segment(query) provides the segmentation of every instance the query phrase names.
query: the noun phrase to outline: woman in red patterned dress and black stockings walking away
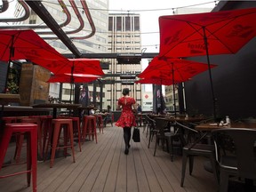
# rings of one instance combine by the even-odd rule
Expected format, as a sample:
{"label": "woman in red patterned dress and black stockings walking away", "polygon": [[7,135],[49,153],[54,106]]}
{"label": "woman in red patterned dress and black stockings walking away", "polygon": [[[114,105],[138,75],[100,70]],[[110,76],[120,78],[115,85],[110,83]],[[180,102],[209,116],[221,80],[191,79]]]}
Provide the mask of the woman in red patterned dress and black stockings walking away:
{"label": "woman in red patterned dress and black stockings walking away", "polygon": [[122,109],[121,116],[116,122],[116,126],[123,127],[124,130],[124,143],[125,150],[124,154],[128,155],[131,140],[131,130],[132,126],[136,126],[135,116],[133,110],[137,110],[137,105],[135,100],[129,96],[129,89],[123,89],[123,97],[121,97],[117,102],[117,110]]}

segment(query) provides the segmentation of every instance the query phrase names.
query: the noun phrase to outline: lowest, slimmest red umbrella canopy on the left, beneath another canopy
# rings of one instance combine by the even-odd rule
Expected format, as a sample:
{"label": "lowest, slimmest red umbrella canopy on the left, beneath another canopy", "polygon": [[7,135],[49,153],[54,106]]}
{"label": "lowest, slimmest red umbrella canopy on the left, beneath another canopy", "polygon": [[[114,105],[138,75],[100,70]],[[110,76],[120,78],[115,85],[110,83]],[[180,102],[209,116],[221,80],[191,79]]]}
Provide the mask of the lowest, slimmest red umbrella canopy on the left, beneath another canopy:
{"label": "lowest, slimmest red umbrella canopy on the left, beneath another canopy", "polygon": [[49,78],[48,83],[89,83],[95,81],[101,76],[95,76],[90,74],[60,74],[54,75]]}

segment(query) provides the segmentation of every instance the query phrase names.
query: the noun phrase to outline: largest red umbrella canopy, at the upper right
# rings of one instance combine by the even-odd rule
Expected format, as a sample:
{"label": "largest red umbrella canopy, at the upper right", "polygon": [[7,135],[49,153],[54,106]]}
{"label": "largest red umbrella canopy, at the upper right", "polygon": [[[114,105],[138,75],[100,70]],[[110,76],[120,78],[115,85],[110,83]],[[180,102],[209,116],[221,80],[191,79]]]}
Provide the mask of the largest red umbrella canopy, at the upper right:
{"label": "largest red umbrella canopy, at the upper right", "polygon": [[160,56],[189,57],[236,53],[256,36],[256,8],[161,16]]}

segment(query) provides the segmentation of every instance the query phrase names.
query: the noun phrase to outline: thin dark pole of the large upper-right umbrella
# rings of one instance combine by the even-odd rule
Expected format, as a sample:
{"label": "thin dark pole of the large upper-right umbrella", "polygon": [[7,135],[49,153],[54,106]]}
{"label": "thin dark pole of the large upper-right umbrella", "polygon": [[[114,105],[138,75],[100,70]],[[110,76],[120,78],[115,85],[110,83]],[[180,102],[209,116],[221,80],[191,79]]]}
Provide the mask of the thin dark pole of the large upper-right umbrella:
{"label": "thin dark pole of the large upper-right umbrella", "polygon": [[205,45],[205,51],[206,51],[206,57],[207,57],[207,64],[208,64],[208,71],[209,71],[209,77],[210,77],[210,84],[211,84],[211,91],[212,91],[212,103],[213,103],[213,118],[216,119],[216,98],[214,95],[213,90],[213,84],[212,84],[212,69],[210,65],[210,58],[209,58],[209,52],[208,52],[208,44],[207,44],[207,37],[205,34],[205,28],[203,27],[204,31],[204,45]]}

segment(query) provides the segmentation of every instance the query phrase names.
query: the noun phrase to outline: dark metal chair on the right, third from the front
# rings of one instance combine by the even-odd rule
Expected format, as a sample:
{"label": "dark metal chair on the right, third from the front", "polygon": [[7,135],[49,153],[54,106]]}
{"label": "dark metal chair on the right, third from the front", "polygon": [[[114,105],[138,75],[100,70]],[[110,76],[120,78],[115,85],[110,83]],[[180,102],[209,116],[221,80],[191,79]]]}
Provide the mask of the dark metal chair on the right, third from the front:
{"label": "dark metal chair on the right, third from the front", "polygon": [[[166,149],[171,156],[171,161],[173,161],[173,148],[180,148],[180,154],[182,153],[182,136],[179,130],[173,129],[173,132],[166,132],[166,128],[170,126],[170,122],[164,118],[156,118],[156,145],[154,150],[154,156],[156,156],[157,142],[161,141],[162,147],[164,149],[164,144],[166,144]],[[172,124],[173,125],[173,124]],[[171,129],[170,129],[171,131]]]}

